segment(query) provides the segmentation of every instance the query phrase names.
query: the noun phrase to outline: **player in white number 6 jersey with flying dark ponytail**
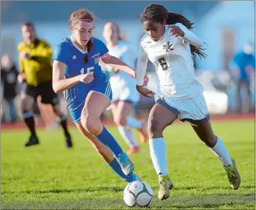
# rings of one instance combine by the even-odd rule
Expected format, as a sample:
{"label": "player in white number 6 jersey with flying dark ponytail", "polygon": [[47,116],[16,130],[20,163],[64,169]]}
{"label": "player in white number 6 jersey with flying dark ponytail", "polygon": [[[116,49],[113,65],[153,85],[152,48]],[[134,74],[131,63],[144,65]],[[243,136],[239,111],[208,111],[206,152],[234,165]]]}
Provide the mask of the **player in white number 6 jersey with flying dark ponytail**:
{"label": "player in white number 6 jersey with flying dark ponytail", "polygon": [[[203,88],[194,76],[192,57],[205,57],[205,53],[202,40],[190,30],[193,23],[157,4],[144,9],[141,22],[146,34],[140,42],[136,88],[146,97],[154,96],[156,101],[150,111],[148,133],[150,155],[159,181],[158,198],[167,199],[173,187],[167,173],[163,130],[178,116],[183,122],[190,122],[200,140],[221,160],[231,187],[238,189],[241,180],[236,163],[221,138],[213,133]],[[148,59],[154,63],[160,80],[156,93],[143,86]]]}

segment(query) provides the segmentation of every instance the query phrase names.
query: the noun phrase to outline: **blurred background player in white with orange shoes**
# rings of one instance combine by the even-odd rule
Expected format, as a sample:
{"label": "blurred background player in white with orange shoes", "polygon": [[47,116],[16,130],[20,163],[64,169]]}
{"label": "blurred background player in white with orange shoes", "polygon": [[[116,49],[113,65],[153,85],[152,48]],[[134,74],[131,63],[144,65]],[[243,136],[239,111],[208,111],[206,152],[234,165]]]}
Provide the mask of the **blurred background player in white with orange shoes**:
{"label": "blurred background player in white with orange shoes", "polygon": [[[135,68],[137,53],[121,38],[119,26],[115,22],[106,22],[103,36],[106,40],[109,54],[121,59],[129,66]],[[136,128],[140,133],[140,140],[148,140],[146,123],[131,117],[133,107],[140,101],[140,93],[136,90],[136,80],[126,72],[116,70],[110,65],[104,66],[110,73],[112,88],[112,115],[114,123],[119,128],[121,136],[130,147],[128,154],[138,153],[139,147],[133,136],[131,128]]]}

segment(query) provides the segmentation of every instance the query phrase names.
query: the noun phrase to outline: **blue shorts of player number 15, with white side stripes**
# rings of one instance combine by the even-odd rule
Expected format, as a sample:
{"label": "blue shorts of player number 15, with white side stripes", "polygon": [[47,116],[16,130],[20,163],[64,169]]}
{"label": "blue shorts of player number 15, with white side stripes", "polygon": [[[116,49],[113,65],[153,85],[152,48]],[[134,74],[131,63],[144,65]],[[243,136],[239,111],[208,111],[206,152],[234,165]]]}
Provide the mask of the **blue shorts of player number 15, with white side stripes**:
{"label": "blue shorts of player number 15, with white side stripes", "polygon": [[[112,89],[110,86],[110,82],[108,82],[108,80],[97,82],[90,88],[83,89],[83,93],[85,94],[85,99],[89,92],[100,93],[106,96],[110,100],[110,103],[112,103]],[[75,101],[75,103],[73,103],[72,106],[68,106],[68,110],[72,117],[73,122],[80,122],[81,113],[85,105],[85,99],[83,101],[79,101],[79,103]]]}

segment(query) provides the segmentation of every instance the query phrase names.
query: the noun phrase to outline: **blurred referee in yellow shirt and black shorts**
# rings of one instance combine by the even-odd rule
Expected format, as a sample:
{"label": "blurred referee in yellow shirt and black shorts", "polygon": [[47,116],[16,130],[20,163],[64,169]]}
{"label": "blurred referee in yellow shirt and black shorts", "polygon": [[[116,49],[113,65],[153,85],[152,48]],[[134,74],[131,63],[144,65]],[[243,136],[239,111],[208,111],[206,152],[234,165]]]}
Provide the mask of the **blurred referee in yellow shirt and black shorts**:
{"label": "blurred referee in yellow shirt and black shorts", "polygon": [[60,111],[58,95],[52,88],[51,47],[37,38],[35,26],[25,22],[21,26],[24,41],[18,45],[20,74],[18,82],[25,82],[26,87],[22,93],[22,116],[30,130],[30,138],[25,146],[39,144],[35,131],[33,105],[37,97],[41,96],[41,103],[52,105],[54,112],[60,117],[60,124],[66,138],[66,147],[72,147],[71,136],[68,132],[66,115]]}

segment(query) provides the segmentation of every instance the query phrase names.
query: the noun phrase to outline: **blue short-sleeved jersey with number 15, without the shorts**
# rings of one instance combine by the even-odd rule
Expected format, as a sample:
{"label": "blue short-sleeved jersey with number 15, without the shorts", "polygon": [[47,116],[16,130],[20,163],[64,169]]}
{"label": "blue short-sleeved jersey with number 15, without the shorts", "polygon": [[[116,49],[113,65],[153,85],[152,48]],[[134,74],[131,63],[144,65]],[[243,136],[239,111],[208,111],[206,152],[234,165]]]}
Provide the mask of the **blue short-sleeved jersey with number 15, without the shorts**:
{"label": "blue short-sleeved jersey with number 15, without the shorts", "polygon": [[[100,82],[104,77],[104,72],[99,65],[100,56],[108,53],[106,45],[98,38],[91,37],[93,49],[91,52],[81,50],[74,44],[70,37],[64,38],[54,49],[54,60],[66,63],[65,78],[72,78],[79,74],[93,72],[94,80],[90,84],[79,84],[69,88],[65,95],[68,102],[83,101],[85,99],[85,89],[91,88],[95,83]],[[88,55],[88,62],[84,64],[85,55]]]}

